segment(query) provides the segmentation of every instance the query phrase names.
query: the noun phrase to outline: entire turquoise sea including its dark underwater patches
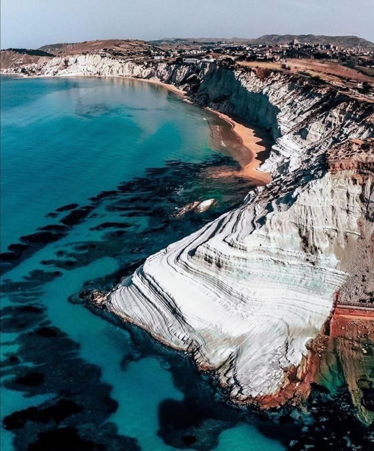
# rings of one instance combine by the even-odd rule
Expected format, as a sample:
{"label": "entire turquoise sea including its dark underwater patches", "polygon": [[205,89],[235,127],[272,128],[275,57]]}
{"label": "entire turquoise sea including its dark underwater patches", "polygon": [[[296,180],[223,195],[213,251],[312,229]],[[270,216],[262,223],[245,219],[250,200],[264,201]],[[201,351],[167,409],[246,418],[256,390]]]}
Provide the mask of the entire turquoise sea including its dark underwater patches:
{"label": "entire turquoise sea including its dark underwater patches", "polygon": [[[236,166],[216,139],[224,127],[137,81],[1,78],[1,450],[275,451],[312,440],[289,412],[227,403],[185,355],[78,295],[110,289],[240,203],[248,181],[213,175]],[[210,197],[207,212],[173,216]]]}

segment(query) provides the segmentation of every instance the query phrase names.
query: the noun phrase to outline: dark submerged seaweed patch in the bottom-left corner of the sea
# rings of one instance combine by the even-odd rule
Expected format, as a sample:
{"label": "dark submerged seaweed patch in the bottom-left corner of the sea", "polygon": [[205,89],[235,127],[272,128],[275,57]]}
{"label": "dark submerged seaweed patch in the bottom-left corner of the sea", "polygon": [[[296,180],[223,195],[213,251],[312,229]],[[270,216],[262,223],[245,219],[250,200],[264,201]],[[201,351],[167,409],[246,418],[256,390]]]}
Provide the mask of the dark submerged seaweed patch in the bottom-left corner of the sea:
{"label": "dark submerged seaweed patch in the bottom-left corner of the sea", "polygon": [[98,366],[79,357],[78,344],[48,323],[45,308],[8,306],[2,317],[3,332],[22,331],[14,341],[17,355],[1,362],[2,386],[27,396],[51,394],[3,419],[15,434],[15,449],[140,449],[107,422],[117,409],[111,387],[101,381]]}

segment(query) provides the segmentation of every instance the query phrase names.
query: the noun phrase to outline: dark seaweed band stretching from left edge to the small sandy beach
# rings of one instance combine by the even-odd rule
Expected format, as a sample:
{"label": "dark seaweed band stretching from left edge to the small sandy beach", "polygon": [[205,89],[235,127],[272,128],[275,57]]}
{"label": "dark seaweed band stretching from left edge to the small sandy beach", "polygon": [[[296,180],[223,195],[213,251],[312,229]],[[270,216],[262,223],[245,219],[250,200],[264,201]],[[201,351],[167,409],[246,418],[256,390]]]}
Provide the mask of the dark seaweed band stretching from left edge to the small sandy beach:
{"label": "dark seaweed band stretching from left edge to the small sandy beach", "polygon": [[[206,171],[209,169],[227,165],[235,166],[235,164],[230,158],[220,155],[200,163],[168,161],[164,167],[148,168],[144,177],[134,177],[130,181],[121,183],[116,190],[99,192],[90,197],[91,203],[87,205],[79,206],[76,203],[70,203],[58,207],[47,216],[54,218],[59,216],[59,223],[40,226],[36,232],[20,237],[21,243],[9,245],[8,252],[0,255],[2,272],[5,273],[14,268],[47,244],[66,237],[72,228],[86,220],[88,216],[94,217],[97,214],[94,210],[101,205],[104,205],[106,213],[110,213],[110,220],[95,225],[92,230],[117,229],[111,232],[110,239],[123,236],[123,231],[131,225],[138,226],[136,218],[148,220],[148,227],[146,223],[143,223],[137,233],[165,232],[165,227],[169,223],[168,216],[174,209],[190,201],[203,200],[218,194],[219,202],[211,211],[203,213],[201,217],[189,217],[181,233],[174,235],[177,239],[182,236],[182,231],[188,234],[200,227],[203,220],[210,220],[235,206],[250,189],[251,183],[245,179],[227,177],[217,180],[207,175]],[[68,213],[61,217],[61,214],[66,211]],[[113,217],[115,212],[118,212],[117,220]],[[123,217],[132,218],[132,221],[124,221]],[[179,226],[180,223],[176,225],[176,228]],[[133,234],[132,230],[131,232]],[[171,236],[169,242],[173,239]],[[166,244],[168,243],[165,241]],[[56,266],[68,268],[69,264]],[[74,267],[75,264],[71,263],[70,266]]]}

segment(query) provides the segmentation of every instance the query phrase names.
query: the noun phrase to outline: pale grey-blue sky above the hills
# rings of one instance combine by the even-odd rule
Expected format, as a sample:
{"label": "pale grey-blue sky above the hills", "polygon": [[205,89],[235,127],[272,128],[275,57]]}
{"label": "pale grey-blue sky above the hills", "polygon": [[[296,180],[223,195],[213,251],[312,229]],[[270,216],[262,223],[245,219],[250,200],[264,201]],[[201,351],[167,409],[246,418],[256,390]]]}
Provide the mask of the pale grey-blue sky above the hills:
{"label": "pale grey-blue sky above the hills", "polygon": [[374,0],[0,0],[0,47],[94,39],[356,35],[374,41]]}

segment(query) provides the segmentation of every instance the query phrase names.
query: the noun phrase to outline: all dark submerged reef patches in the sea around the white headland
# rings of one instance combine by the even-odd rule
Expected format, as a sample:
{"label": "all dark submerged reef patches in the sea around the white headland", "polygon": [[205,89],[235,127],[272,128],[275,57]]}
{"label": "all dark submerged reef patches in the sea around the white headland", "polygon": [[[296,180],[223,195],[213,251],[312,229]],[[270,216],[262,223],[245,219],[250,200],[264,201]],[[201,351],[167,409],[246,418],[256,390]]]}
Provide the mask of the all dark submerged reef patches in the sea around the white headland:
{"label": "all dark submerged reef patches in the sea around the white headland", "polygon": [[[2,332],[17,334],[13,341],[16,354],[9,352],[1,361],[2,386],[31,400],[35,395],[49,396],[3,419],[2,426],[14,433],[15,449],[140,449],[135,438],[119,434],[117,425],[110,421],[117,401],[112,397],[112,387],[101,380],[100,368],[84,360],[78,343],[51,324],[47,306],[39,299],[45,284],[63,272],[103,257],[115,258],[118,270],[86,281],[80,296],[71,293],[70,302],[84,304],[90,289],[112,288],[148,255],[236,206],[250,186],[246,180],[227,178],[219,180],[220,197],[210,210],[202,214],[188,212],[181,218],[173,216],[176,208],[188,202],[215,197],[217,181],[206,177],[206,170],[229,164],[230,159],[216,156],[200,164],[172,161],[162,168],[148,169],[145,177],[124,182],[116,190],[102,191],[85,206],[71,203],[57,208],[49,215],[58,218],[57,224],[41,225],[38,231],[21,237],[21,243],[8,247],[2,260],[4,270],[14,268],[48,243],[55,243],[51,251],[54,255],[40,262],[44,270],[35,268],[22,280],[4,279],[1,285],[11,301],[1,310]],[[66,211],[61,217],[60,213]],[[90,227],[95,239],[59,246],[62,237],[92,215],[99,218],[98,225]],[[91,221],[87,228],[90,225]],[[53,303],[53,298],[49,302]],[[107,319],[119,324],[113,318]],[[123,355],[122,371],[130,362],[155,357],[183,393],[182,400],[163,399],[158,406],[157,433],[168,446],[213,449],[223,430],[249,422],[264,436],[280,440],[289,449],[372,449],[374,431],[355,419],[343,387],[332,395],[314,386],[304,413],[290,406],[255,412],[228,403],[210,375],[198,372],[188,356],[167,349],[139,328],[122,323],[120,327],[120,333],[131,342],[130,350]],[[365,393],[364,402],[372,406],[370,391]]]}

